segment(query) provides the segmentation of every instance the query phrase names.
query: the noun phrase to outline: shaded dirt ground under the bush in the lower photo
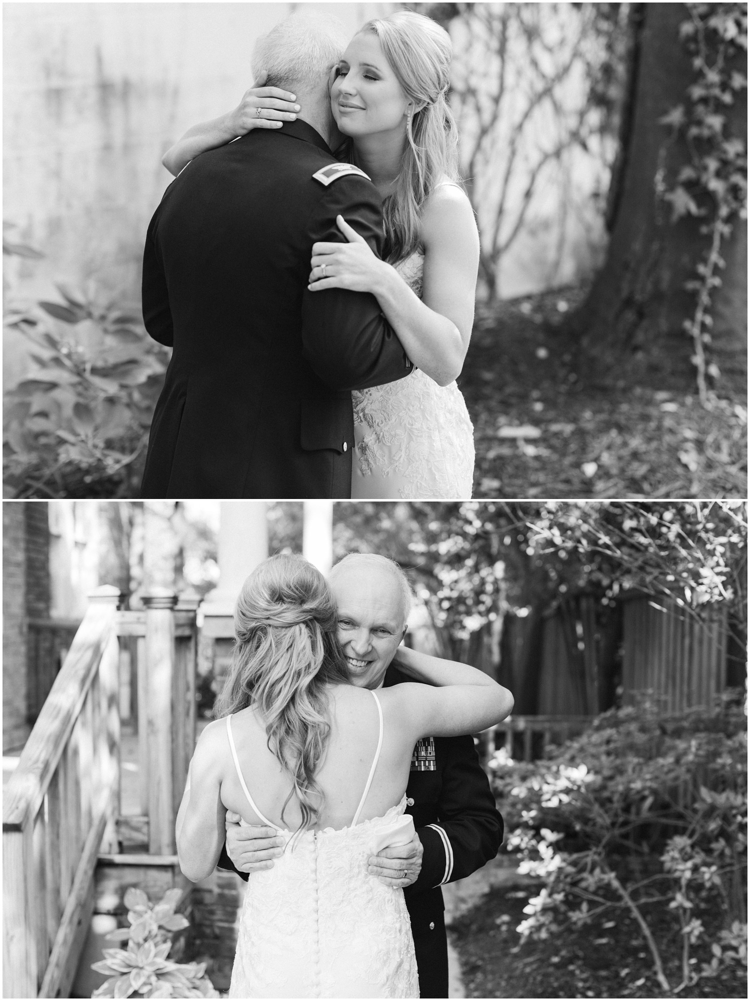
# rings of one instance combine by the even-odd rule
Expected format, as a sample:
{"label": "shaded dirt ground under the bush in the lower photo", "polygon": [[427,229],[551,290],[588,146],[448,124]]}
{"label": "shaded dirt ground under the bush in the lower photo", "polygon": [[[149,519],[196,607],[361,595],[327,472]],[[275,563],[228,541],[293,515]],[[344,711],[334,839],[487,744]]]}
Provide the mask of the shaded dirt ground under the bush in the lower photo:
{"label": "shaded dirt ground under the bush in the lower photo", "polygon": [[[638,925],[621,910],[604,912],[579,930],[569,929],[542,942],[521,945],[516,927],[529,888],[501,886],[490,890],[470,911],[451,924],[451,941],[461,963],[466,997],[586,998],[664,997],[654,975],[651,954]],[[680,983],[681,936],[677,921],[664,908],[649,914],[651,931],[673,987]],[[707,927],[711,916],[701,915]],[[714,921],[716,915],[713,916]],[[697,946],[697,968],[708,962],[707,945]],[[701,979],[679,997],[744,998],[747,971],[740,968],[713,979]]]}

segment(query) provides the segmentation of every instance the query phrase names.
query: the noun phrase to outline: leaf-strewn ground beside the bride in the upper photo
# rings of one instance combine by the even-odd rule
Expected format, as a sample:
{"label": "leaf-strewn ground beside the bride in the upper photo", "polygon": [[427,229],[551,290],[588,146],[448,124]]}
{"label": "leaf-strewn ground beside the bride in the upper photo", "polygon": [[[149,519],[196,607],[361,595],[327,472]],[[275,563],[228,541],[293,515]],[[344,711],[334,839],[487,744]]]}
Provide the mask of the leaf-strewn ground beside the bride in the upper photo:
{"label": "leaf-strewn ground beside the bride in the upper photo", "polygon": [[563,332],[581,298],[569,288],[478,311],[459,380],[475,425],[474,495],[746,496],[744,395],[720,388],[707,410],[684,372],[595,380]]}

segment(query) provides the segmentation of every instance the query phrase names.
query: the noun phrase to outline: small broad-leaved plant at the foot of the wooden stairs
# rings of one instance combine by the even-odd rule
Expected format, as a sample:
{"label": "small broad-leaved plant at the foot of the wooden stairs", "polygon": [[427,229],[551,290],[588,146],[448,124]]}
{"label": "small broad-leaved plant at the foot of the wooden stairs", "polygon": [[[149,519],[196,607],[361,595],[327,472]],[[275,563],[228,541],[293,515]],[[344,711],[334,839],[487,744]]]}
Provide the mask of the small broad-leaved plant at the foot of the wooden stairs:
{"label": "small broad-leaved plant at the foot of the wooden stairs", "polygon": [[142,890],[130,887],[125,892],[129,928],[118,928],[107,938],[127,940],[127,949],[105,949],[105,958],[91,964],[97,973],[109,979],[94,991],[95,998],[127,998],[140,994],[147,998],[216,998],[219,996],[205,976],[205,963],[174,963],[167,959],[174,932],[187,928],[189,922],[174,908],[182,896],[175,888],[167,890],[158,904],[152,905]]}

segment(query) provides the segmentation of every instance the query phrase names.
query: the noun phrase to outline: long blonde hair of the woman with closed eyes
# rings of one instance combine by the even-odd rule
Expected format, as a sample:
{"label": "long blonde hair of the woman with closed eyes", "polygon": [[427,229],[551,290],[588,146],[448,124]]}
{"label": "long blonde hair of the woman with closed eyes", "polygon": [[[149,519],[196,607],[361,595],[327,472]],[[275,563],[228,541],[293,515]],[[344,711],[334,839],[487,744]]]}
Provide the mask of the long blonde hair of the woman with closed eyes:
{"label": "long blonde hair of the woman with closed eyes", "polygon": [[396,190],[383,203],[384,257],[397,263],[421,243],[422,206],[443,178],[459,179],[459,132],[446,100],[451,85],[451,36],[411,10],[367,21],[404,93],[413,102]]}

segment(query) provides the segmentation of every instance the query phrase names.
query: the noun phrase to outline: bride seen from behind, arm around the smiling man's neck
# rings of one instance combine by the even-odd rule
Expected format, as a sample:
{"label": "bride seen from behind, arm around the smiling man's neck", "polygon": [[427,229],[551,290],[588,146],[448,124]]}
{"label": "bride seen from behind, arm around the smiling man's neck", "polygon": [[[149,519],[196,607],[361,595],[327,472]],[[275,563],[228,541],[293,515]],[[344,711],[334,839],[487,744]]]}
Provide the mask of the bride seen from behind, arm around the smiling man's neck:
{"label": "bride seen from behind, arm around the smiling man's neck", "polygon": [[216,865],[227,810],[284,841],[273,868],[250,876],[229,996],[417,997],[404,891],[369,875],[367,858],[414,834],[417,741],[492,726],[512,697],[474,668],[413,651],[410,673],[429,684],[351,684],[333,596],[299,557],[253,571],[234,625],[226,716],[198,740],[176,824],[195,881]]}

